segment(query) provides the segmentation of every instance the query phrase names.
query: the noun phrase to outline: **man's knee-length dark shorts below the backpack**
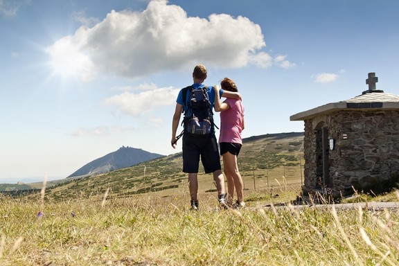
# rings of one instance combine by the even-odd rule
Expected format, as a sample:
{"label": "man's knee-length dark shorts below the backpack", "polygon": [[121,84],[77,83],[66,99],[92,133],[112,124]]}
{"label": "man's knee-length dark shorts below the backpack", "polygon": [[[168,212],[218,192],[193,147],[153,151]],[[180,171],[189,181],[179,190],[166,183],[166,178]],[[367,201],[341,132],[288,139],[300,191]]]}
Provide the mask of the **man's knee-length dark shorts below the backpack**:
{"label": "man's knee-length dark shorts below the backpack", "polygon": [[199,159],[206,174],[221,170],[218,141],[215,134],[209,136],[183,135],[183,172],[196,173]]}

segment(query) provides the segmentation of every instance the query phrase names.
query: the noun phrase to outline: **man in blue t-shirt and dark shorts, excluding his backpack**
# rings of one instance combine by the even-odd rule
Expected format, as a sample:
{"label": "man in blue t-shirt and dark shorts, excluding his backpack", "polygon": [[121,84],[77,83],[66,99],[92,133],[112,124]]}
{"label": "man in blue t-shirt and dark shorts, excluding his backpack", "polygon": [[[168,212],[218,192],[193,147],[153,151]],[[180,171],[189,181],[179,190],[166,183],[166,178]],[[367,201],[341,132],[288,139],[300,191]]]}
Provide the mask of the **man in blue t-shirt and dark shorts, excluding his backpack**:
{"label": "man in blue t-shirt and dark shorts, excluding his backpack", "polygon": [[[206,67],[202,64],[197,65],[193,71],[193,88],[202,89],[204,88],[204,80],[206,80]],[[187,99],[190,96],[190,91],[186,90],[186,97],[183,96],[184,89],[179,91],[179,95],[176,100],[175,114],[172,119],[172,148],[176,148],[177,142],[177,127],[179,127],[179,121],[181,118],[181,112],[186,111],[189,108]],[[211,109],[213,109],[213,103],[215,99],[215,91],[213,87],[208,87],[206,92],[209,96],[209,102]],[[223,91],[220,89],[220,96],[227,98],[240,98],[240,94]],[[186,103],[184,103],[184,98],[186,98]],[[224,193],[224,176],[222,174],[222,168],[220,166],[220,154],[218,149],[218,142],[215,137],[215,129],[212,124],[212,129],[210,134],[205,135],[193,135],[186,130],[183,134],[183,172],[188,173],[188,188],[190,190],[190,204],[191,210],[198,210],[198,168],[199,168],[199,158],[201,158],[202,165],[206,173],[213,174],[213,180],[215,181],[216,188],[218,190],[219,203],[223,208],[227,207],[226,194]]]}

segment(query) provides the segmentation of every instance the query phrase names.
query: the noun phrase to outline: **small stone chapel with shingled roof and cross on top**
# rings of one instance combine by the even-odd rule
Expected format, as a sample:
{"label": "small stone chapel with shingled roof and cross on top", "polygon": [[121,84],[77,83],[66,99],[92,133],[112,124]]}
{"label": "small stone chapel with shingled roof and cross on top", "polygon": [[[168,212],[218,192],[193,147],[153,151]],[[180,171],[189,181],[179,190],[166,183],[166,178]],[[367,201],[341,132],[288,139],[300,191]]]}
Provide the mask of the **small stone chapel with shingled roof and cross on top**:
{"label": "small stone chapel with shingled roof and cross on top", "polygon": [[290,116],[304,121],[305,195],[381,193],[399,180],[399,96],[376,89],[369,73],[362,95]]}

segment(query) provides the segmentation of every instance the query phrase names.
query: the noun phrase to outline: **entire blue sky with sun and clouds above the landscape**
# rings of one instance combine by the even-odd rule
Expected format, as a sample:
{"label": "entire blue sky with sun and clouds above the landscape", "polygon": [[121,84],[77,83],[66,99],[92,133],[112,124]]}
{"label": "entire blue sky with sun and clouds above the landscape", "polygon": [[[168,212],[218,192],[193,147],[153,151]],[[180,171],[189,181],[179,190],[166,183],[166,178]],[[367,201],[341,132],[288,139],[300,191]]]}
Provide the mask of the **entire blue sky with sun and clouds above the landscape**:
{"label": "entire blue sky with sun and clouds above the landscape", "polygon": [[206,85],[236,82],[244,138],[303,132],[290,116],[362,94],[369,72],[399,94],[398,11],[396,0],[0,0],[0,182],[62,179],[122,146],[181,152],[172,115],[196,64]]}

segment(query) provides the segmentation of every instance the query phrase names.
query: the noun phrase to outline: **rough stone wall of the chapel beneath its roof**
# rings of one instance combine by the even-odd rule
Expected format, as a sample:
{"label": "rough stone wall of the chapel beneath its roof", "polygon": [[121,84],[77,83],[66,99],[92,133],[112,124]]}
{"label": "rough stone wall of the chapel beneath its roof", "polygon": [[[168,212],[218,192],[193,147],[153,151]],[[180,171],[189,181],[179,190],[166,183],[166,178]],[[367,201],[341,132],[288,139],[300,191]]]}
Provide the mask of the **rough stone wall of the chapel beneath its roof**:
{"label": "rough stone wall of the chapel beneath its roof", "polygon": [[352,194],[353,188],[379,193],[395,186],[399,179],[399,111],[345,110],[305,121],[304,191],[327,189],[320,170],[323,127],[328,128],[328,138],[335,139],[335,148],[328,150],[333,194]]}

